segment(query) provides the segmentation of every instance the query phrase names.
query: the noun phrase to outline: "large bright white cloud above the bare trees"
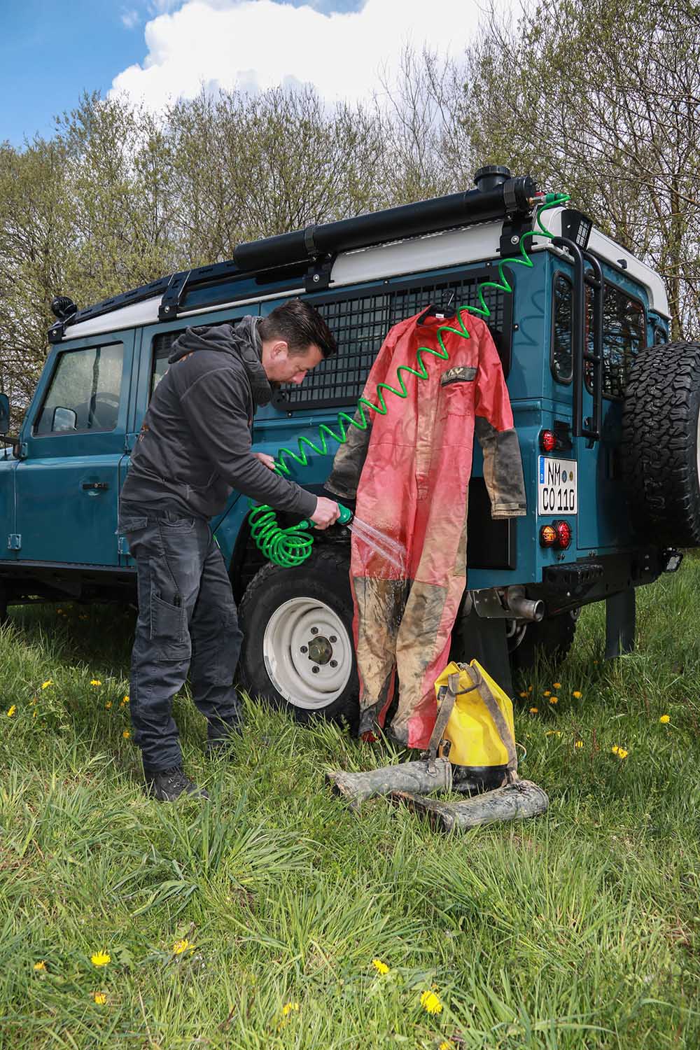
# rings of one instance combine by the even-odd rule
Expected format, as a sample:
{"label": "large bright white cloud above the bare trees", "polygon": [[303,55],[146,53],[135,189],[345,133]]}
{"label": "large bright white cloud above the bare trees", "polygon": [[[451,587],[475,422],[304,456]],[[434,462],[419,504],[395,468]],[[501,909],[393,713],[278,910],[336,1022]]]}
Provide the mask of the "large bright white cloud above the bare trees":
{"label": "large bright white cloud above the bare trees", "polygon": [[193,98],[203,83],[248,90],[311,83],[327,102],[368,99],[408,43],[462,54],[481,9],[483,0],[366,0],[359,12],[327,15],[276,0],[186,0],[147,23],[148,54],[114,78],[112,92],[155,110]]}

